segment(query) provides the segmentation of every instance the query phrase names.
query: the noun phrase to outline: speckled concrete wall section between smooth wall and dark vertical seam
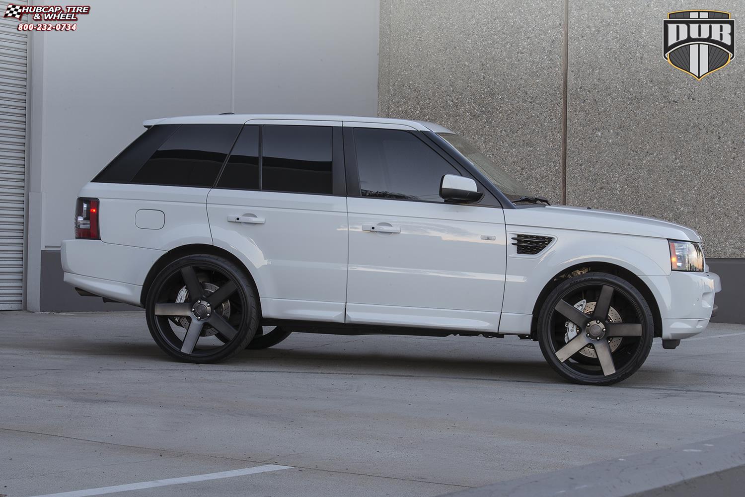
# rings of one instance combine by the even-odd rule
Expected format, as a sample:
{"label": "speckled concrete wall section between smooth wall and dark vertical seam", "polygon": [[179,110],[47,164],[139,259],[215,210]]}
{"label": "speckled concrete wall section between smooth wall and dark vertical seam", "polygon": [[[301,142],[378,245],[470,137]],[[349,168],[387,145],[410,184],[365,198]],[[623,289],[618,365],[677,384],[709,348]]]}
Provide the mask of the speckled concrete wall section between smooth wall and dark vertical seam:
{"label": "speckled concrete wall section between smooth wall and dark vertical seam", "polygon": [[378,113],[463,134],[561,198],[563,0],[382,0]]}

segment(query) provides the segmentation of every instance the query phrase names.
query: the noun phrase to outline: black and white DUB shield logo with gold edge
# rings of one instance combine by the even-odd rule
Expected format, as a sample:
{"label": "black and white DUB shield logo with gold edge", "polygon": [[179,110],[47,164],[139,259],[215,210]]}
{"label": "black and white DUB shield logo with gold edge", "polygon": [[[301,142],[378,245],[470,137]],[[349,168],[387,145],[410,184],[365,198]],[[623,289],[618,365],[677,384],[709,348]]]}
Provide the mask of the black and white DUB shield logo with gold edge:
{"label": "black and white DUB shield logo with gold edge", "polygon": [[735,58],[735,19],[720,10],[671,12],[662,40],[662,57],[700,81]]}

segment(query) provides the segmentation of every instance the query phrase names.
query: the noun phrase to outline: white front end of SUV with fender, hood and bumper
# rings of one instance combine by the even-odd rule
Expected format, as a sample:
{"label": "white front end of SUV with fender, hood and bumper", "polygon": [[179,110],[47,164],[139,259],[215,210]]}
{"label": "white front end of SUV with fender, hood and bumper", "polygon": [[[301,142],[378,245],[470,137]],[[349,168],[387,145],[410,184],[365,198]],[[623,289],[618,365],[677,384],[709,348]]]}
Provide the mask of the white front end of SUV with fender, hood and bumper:
{"label": "white front end of SUV with fender, hood and bumper", "polygon": [[659,307],[662,338],[688,338],[706,328],[701,322],[708,323],[711,317],[718,277],[670,267],[668,238],[700,241],[693,229],[620,212],[565,206],[506,209],[504,217],[507,240],[515,233],[555,239],[535,256],[518,254],[508,245],[500,332],[530,330],[533,307],[545,285],[564,270],[591,262],[617,265],[641,278]]}

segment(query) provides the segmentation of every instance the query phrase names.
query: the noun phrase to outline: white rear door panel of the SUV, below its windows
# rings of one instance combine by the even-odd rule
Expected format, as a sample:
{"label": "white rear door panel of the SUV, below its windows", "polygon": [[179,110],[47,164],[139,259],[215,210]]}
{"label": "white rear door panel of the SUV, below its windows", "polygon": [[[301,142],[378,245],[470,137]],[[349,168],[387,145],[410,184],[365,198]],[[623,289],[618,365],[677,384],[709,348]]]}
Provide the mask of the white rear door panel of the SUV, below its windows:
{"label": "white rear door panel of the SUV, below its windows", "polygon": [[[264,317],[343,322],[345,197],[213,189],[207,212],[215,246],[253,276]],[[264,224],[228,221],[244,215]]]}

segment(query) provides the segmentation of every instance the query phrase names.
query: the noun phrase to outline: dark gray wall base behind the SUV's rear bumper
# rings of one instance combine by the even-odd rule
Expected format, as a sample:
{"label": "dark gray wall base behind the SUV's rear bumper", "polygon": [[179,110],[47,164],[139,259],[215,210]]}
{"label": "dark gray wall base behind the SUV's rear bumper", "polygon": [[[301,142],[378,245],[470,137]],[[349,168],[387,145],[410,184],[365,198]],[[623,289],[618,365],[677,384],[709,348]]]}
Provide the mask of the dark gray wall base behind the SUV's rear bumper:
{"label": "dark gray wall base behind the SUV's rear bumper", "polygon": [[104,303],[100,297],[80,297],[75,288],[63,281],[64,271],[59,250],[42,250],[39,310],[47,312],[74,311],[136,311],[127,304]]}

